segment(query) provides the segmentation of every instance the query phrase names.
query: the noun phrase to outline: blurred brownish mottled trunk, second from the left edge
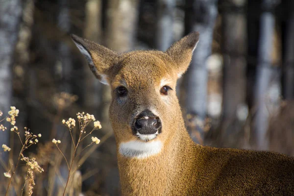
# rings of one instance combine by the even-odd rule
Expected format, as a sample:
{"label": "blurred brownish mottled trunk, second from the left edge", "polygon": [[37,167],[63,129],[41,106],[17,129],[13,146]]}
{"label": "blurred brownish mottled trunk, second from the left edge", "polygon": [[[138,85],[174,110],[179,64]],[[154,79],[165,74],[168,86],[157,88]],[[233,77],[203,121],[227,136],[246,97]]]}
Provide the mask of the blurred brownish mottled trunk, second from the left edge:
{"label": "blurred brownish mottled trunk, second from the left edge", "polygon": [[[13,69],[13,100],[14,106],[20,110],[17,117],[17,126],[20,130],[21,138],[25,137],[24,127],[27,126],[29,113],[27,112],[27,93],[28,93],[28,66],[30,60],[30,41],[32,35],[32,25],[34,23],[34,1],[23,1],[22,22],[18,32],[18,42],[15,49],[15,58]],[[18,152],[21,151],[22,145],[18,137],[13,138],[13,158],[18,159]]]}

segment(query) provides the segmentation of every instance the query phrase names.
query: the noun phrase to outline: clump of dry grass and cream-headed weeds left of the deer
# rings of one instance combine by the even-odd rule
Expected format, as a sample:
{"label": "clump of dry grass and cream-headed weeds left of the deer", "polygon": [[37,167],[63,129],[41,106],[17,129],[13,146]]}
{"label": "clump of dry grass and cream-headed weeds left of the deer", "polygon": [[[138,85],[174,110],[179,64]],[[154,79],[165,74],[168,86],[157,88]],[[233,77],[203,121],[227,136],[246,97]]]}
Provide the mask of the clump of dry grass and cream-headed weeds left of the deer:
{"label": "clump of dry grass and cream-headed weeds left of the deer", "polygon": [[[66,97],[62,99],[72,99],[69,102],[74,101],[74,98],[70,98],[70,96],[63,95],[62,97]],[[59,107],[62,108],[64,103],[64,101],[59,101]],[[13,134],[16,134],[22,146],[20,152],[18,152],[18,158],[14,160],[13,155],[16,152],[13,152],[8,144],[1,144],[2,153],[10,153],[12,155],[9,156],[8,163],[4,163],[3,160],[0,161],[5,171],[1,175],[6,179],[6,182],[2,183],[0,187],[0,193],[5,193],[5,196],[15,194],[17,196],[79,196],[82,193],[83,179],[87,179],[97,173],[97,171],[93,170],[82,175],[80,167],[97,149],[99,144],[111,136],[111,133],[104,135],[101,141],[93,136],[94,131],[101,128],[100,122],[96,121],[93,115],[82,112],[77,113],[77,125],[73,118],[60,122],[68,130],[63,134],[62,138],[38,144],[38,138],[41,137],[41,134],[35,135],[26,127],[21,129],[16,126],[18,114],[19,110],[11,107],[8,116],[0,120],[1,132],[9,131],[9,128],[4,126],[5,121],[7,121],[11,126],[11,137]],[[2,112],[0,112],[0,116],[2,115]],[[90,123],[93,128],[88,131],[87,127]],[[25,138],[22,138],[22,132]],[[26,152],[33,145],[37,145],[36,153]]]}

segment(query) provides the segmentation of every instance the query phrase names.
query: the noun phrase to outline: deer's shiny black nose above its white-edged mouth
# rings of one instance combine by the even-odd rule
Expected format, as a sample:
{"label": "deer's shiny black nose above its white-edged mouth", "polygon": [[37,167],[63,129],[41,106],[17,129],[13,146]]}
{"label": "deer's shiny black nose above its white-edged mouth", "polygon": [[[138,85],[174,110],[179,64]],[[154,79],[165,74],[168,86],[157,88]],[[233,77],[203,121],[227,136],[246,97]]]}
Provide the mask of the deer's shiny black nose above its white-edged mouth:
{"label": "deer's shiny black nose above its white-edged mouth", "polygon": [[154,134],[157,131],[161,133],[161,122],[150,110],[144,110],[134,119],[134,134]]}

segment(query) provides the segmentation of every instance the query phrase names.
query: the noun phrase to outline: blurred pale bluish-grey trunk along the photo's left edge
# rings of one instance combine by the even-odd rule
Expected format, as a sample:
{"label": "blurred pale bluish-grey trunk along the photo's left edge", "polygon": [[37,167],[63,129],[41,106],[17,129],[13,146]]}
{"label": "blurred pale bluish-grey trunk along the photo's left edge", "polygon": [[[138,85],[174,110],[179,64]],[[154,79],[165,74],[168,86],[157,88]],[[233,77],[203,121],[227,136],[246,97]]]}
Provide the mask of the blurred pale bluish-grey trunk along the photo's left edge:
{"label": "blurred pale bluish-grey trunk along the photo's left edge", "polygon": [[[12,70],[14,50],[18,38],[18,29],[22,14],[21,0],[1,0],[0,2],[0,110],[7,115],[12,104]],[[6,124],[7,125],[7,124]],[[9,145],[9,127],[1,133],[0,145]],[[7,163],[8,153],[0,158]],[[3,175],[1,175],[3,176]],[[2,178],[2,177],[0,177]]]}

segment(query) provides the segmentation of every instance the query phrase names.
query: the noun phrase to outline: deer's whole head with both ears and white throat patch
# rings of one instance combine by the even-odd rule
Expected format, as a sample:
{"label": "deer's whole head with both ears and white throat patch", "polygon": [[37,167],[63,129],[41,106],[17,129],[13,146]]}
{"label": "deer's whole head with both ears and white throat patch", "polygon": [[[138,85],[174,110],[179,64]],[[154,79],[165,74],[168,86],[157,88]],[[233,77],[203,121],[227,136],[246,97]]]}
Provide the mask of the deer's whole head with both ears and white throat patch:
{"label": "deer's whole head with both ears and white throat patch", "polygon": [[191,61],[198,33],[189,34],[166,52],[120,55],[76,36],[73,41],[93,73],[111,87],[109,117],[121,154],[144,158],[160,152],[178,128],[176,80]]}

